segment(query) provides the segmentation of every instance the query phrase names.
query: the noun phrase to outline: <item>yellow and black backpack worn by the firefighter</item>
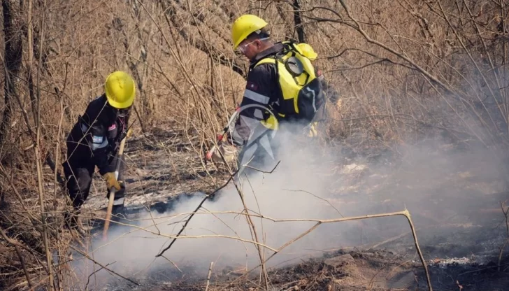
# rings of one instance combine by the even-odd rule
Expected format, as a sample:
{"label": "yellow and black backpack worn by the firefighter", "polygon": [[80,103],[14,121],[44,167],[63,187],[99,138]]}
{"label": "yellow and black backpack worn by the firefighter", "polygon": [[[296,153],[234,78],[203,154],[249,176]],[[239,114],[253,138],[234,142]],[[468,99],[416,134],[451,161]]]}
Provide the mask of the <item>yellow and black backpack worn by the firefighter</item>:
{"label": "yellow and black backpack worn by the firefighter", "polygon": [[[279,118],[296,118],[311,122],[325,101],[322,83],[306,51],[299,44],[284,41],[283,49],[275,55],[261,59],[260,64],[275,64],[278,83],[282,93]],[[278,119],[279,119],[278,118]]]}

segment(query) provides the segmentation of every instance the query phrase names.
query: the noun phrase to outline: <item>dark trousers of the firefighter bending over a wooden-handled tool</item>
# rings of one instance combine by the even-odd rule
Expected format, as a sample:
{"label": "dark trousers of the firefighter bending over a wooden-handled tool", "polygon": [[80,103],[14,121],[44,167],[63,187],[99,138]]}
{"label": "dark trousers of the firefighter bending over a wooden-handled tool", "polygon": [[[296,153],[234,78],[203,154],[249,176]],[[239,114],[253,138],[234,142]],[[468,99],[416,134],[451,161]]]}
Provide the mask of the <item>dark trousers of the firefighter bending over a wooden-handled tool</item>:
{"label": "dark trousers of the firefighter bending over a wooden-handled tool", "polygon": [[[64,174],[66,176],[66,190],[67,194],[73,201],[73,207],[75,210],[78,210],[83,203],[87,200],[88,194],[90,192],[90,185],[92,185],[92,178],[94,176],[95,164],[90,157],[84,157],[83,152],[79,151],[79,148],[73,152],[73,146],[68,144],[67,150],[67,159],[62,164],[64,167]],[[117,157],[115,157],[116,152],[113,152],[111,155],[108,155],[108,162],[114,166],[117,163]],[[87,153],[89,156],[89,153]],[[120,163],[120,171],[118,173],[117,180],[123,180],[123,174],[125,168],[124,157],[122,156],[122,161]],[[124,198],[124,190],[115,192],[115,200],[118,201]],[[109,195],[109,191],[106,190],[106,197]],[[115,203],[117,205],[118,203]]]}

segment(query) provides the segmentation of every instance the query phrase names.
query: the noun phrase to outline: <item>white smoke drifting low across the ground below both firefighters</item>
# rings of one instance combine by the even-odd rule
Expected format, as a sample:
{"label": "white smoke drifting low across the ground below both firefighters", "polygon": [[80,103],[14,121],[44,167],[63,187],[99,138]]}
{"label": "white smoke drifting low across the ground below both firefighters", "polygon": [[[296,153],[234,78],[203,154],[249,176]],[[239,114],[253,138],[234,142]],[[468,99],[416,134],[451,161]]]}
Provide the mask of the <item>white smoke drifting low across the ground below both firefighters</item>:
{"label": "white smoke drifting low across the ground below both firefighters", "polygon": [[[464,209],[476,211],[479,207],[499,207],[498,201],[494,200],[496,197],[490,198],[482,193],[503,191],[503,183],[492,181],[501,180],[501,176],[507,172],[500,168],[502,155],[499,152],[475,149],[457,154],[444,153],[436,150],[443,147],[443,143],[432,141],[400,148],[401,152],[405,152],[405,157],[394,169],[383,164],[370,165],[369,175],[359,176],[358,179],[363,180],[371,192],[356,192],[354,188],[349,188],[354,182],[338,180],[338,173],[334,173],[334,178],[327,178],[334,167],[345,171],[351,168],[350,164],[334,164],[340,155],[338,152],[328,152],[306,139],[290,138],[286,134],[282,140],[289,143],[281,148],[279,157],[282,162],[273,173],[255,171],[248,180],[243,178],[239,181],[250,213],[259,213],[266,218],[305,220],[402,211],[408,207],[416,227],[422,227],[417,230],[421,246],[433,246],[440,242],[440,237],[437,239],[433,236],[438,232],[430,228],[438,227],[440,223],[477,225],[479,215],[465,216]],[[358,159],[355,162],[363,161]],[[272,166],[261,170],[271,171]],[[458,177],[466,178],[458,180]],[[473,179],[478,179],[479,183],[476,184]],[[336,187],[342,187],[343,190]],[[256,267],[260,262],[259,254],[249,242],[254,241],[254,237],[245,215],[238,214],[244,208],[233,183],[214,199],[206,201],[199,210],[205,214],[194,215],[182,232],[182,237],[164,253],[164,257],[156,257],[173,240],[173,237],[166,236],[175,236],[184,223],[182,220],[189,217],[178,214],[194,211],[203,197],[204,194],[183,196],[169,212],[145,213],[138,221],[131,222],[134,227],[113,227],[110,229],[109,243],[94,243],[94,260],[103,265],[110,264],[109,269],[129,278],[157,270],[174,271],[180,276],[185,276],[187,270],[205,278],[210,262],[214,262],[215,271],[227,266],[233,269]],[[228,211],[237,214],[221,213]],[[274,249],[296,239],[316,223],[272,222],[254,216],[252,222],[259,242]],[[408,231],[408,222],[401,217],[324,224],[289,244],[266,266],[280,267],[299,259],[320,256],[322,250],[376,243],[381,241],[382,236],[391,237]],[[410,234],[408,239],[411,239]],[[443,236],[443,239],[447,240],[447,236]],[[494,248],[495,243],[487,248]],[[412,248],[411,243],[409,246]],[[262,250],[265,260],[273,254],[273,250],[263,247]],[[458,254],[463,252],[459,248],[457,250]],[[115,264],[111,264],[113,262]],[[83,272],[83,276],[87,278],[91,271],[89,268],[89,271]],[[105,270],[96,274],[96,278],[112,277],[115,276]]]}

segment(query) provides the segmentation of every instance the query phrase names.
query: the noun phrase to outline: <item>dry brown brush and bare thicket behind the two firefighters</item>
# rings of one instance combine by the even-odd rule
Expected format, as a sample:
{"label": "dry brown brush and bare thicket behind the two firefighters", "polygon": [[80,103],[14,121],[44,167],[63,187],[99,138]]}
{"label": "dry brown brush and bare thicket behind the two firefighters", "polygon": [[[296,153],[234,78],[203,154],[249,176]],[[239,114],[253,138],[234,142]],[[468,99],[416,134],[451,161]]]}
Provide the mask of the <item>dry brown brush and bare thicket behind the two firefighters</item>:
{"label": "dry brown brush and bare thicket behind the two firefighters", "polygon": [[[7,118],[1,127],[0,228],[10,241],[0,239],[1,266],[8,266],[0,269],[6,282],[0,287],[48,285],[52,274],[59,288],[67,278],[64,254],[71,238],[58,231],[66,199],[41,163],[51,155],[59,167],[66,134],[101,94],[110,71],[129,71],[138,83],[135,136],[178,129],[196,159],[179,170],[208,169],[203,148],[240,102],[245,84],[247,62],[231,50],[231,22],[255,13],[271,23],[274,38],[297,38],[292,3],[57,0],[12,6],[17,30],[1,43],[7,48],[21,40],[22,54],[19,71],[10,70],[12,55],[1,56],[6,70],[0,82],[10,91],[1,104]],[[317,66],[341,93],[337,104],[328,105],[324,141],[395,148],[441,134],[452,142],[507,146],[505,0],[300,3]],[[5,78],[6,72],[14,75]],[[16,247],[19,255],[5,255]],[[52,262],[49,271],[48,254],[55,252],[62,262]]]}

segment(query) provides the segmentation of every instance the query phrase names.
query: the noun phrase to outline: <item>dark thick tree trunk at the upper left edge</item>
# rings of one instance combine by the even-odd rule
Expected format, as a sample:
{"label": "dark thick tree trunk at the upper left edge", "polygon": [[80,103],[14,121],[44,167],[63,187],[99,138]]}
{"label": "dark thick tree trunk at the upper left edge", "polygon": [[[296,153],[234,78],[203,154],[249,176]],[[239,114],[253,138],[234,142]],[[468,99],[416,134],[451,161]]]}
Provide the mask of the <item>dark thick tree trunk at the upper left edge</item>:
{"label": "dark thick tree trunk at the upper left edge", "polygon": [[22,59],[22,14],[20,1],[4,0],[3,8],[3,36],[5,41],[5,83],[4,83],[4,100],[5,110],[0,125],[0,144],[3,143],[8,134],[10,127],[10,119],[12,118],[11,100],[16,94],[16,89],[20,86],[18,78],[21,69]]}

